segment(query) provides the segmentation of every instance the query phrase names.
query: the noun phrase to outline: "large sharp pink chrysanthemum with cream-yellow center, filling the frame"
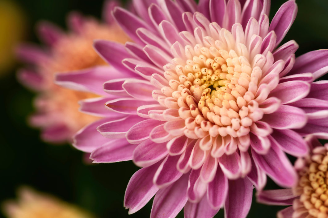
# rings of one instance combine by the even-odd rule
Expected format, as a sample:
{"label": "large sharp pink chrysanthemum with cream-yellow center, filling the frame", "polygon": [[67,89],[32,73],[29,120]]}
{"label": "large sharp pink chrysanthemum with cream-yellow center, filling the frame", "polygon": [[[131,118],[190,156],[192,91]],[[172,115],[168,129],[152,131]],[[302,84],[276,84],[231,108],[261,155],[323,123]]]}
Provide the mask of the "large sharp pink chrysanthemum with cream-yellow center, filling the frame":
{"label": "large sharp pink chrysanthemum with cream-yellow center, filling the frame", "polygon": [[[96,163],[133,159],[143,167],[125,193],[129,213],[156,194],[151,217],[182,208],[185,217],[212,217],[224,206],[226,217],[240,218],[266,175],[292,187],[297,174],[284,152],[304,155],[303,135],[328,132],[328,82],[313,82],[326,72],[327,50],[295,59],[296,42],[277,47],[295,19],[295,1],[270,25],[268,0],[133,4],[140,17],[122,8],[113,15],[134,43],[94,44],[116,71],[106,74],[108,96],[91,99],[87,110],[109,118],[74,138]],[[57,81],[99,89],[101,70]]]}

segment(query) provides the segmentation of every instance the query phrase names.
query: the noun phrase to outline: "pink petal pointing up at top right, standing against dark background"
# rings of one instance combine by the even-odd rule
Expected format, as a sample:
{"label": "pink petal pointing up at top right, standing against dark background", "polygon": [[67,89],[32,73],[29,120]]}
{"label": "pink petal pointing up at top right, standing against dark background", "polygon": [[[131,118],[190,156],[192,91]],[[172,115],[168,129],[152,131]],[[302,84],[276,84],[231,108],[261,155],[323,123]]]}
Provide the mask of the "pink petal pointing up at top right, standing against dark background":
{"label": "pink petal pointing up at top right, standing against dark background", "polygon": [[295,0],[284,3],[271,21],[269,31],[274,30],[277,35],[276,46],[282,41],[293,24],[297,14]]}

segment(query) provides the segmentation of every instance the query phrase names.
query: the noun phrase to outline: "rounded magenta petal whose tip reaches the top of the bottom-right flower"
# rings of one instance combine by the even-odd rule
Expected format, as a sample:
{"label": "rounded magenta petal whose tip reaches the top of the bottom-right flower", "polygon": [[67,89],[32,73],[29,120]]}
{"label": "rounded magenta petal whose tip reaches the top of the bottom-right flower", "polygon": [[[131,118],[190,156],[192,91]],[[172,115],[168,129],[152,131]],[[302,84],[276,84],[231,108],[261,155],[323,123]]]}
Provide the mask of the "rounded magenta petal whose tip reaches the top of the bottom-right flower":
{"label": "rounded magenta petal whose tip reaches the top of the bottom-right flower", "polygon": [[286,153],[301,157],[309,151],[303,138],[290,129],[274,129],[271,134],[279,147]]}

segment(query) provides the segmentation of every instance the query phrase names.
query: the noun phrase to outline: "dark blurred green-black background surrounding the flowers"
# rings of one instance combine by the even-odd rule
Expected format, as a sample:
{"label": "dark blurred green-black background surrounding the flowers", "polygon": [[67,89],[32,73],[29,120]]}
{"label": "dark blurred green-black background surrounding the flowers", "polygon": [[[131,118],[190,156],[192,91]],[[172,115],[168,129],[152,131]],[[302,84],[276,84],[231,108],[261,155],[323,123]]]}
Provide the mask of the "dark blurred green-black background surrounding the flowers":
{"label": "dark blurred green-black background surrounding the flowers", "polygon": [[[284,2],[272,0],[270,20]],[[328,1],[296,2],[297,18],[283,42],[294,39],[300,46],[297,56],[328,48]],[[0,202],[16,198],[17,188],[28,185],[91,211],[96,217],[149,217],[151,202],[132,215],[123,208],[126,185],[138,167],[132,161],[87,165],[82,152],[71,145],[42,142],[39,130],[27,124],[35,93],[16,81],[21,63],[13,58],[12,47],[20,40],[39,43],[34,33],[37,21],[48,20],[66,28],[69,11],[100,19],[102,5],[102,0],[0,0]],[[277,186],[269,179],[266,188]],[[248,217],[276,217],[282,208],[253,200]],[[1,212],[0,216],[4,217]],[[223,217],[223,210],[215,217]]]}

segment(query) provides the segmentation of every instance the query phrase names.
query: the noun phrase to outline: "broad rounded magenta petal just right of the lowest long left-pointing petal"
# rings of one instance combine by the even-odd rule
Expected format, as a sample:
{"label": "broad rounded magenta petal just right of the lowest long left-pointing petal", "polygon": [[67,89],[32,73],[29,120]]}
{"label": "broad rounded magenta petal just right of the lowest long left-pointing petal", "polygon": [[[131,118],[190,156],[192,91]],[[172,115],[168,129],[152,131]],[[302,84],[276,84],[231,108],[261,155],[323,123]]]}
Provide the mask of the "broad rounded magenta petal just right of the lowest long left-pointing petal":
{"label": "broad rounded magenta petal just right of the lowest long left-pointing petal", "polygon": [[133,162],[140,167],[157,163],[168,154],[166,143],[154,143],[150,139],[140,143],[133,152]]}

